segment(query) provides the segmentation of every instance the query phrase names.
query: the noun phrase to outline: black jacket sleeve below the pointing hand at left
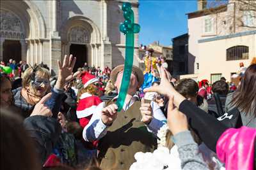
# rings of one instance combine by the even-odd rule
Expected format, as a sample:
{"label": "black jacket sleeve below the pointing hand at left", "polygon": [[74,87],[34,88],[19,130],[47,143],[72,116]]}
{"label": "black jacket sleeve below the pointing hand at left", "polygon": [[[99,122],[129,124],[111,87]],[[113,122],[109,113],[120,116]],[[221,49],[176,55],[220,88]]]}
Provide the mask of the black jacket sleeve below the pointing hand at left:
{"label": "black jacket sleeve below the pointing hand at left", "polygon": [[35,115],[24,120],[24,127],[35,141],[36,152],[43,165],[58,141],[61,125],[56,118]]}

